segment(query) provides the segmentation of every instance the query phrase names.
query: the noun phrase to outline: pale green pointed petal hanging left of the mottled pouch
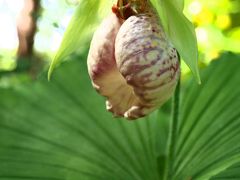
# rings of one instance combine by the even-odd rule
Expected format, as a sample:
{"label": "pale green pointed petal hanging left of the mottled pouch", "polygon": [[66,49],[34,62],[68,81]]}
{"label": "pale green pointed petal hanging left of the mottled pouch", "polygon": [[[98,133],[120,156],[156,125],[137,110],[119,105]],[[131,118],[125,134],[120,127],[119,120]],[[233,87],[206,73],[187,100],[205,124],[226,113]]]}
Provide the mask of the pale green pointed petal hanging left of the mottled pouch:
{"label": "pale green pointed petal hanging left of the mottled pouch", "polygon": [[[106,0],[82,0],[64,34],[60,48],[53,59],[48,72],[48,79],[56,65],[79,50],[86,43],[89,34],[93,32],[94,26],[99,21],[99,12],[104,15],[103,9],[109,4]],[[101,17],[101,16],[100,16]]]}

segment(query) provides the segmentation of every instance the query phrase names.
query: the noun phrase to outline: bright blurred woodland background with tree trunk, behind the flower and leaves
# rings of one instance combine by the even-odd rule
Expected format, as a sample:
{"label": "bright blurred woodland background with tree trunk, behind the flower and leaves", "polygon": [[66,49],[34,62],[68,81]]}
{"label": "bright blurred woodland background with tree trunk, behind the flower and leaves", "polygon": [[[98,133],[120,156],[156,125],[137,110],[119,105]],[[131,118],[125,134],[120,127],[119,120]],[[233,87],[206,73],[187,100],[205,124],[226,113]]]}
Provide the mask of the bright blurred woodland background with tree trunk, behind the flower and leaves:
{"label": "bright blurred woodland background with tree trunk, behind the flower and leaves", "polygon": [[[78,3],[0,0],[0,86],[36,79],[48,68]],[[240,52],[239,0],[185,0],[184,13],[196,27],[200,66],[222,51]]]}

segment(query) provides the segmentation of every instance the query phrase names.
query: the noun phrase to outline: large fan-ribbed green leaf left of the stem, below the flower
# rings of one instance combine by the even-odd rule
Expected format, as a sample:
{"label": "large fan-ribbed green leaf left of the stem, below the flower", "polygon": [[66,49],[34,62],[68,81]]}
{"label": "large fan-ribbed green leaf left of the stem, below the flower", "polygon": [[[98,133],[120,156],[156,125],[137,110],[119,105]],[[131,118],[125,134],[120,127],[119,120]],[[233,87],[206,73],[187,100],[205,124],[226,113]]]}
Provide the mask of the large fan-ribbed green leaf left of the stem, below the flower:
{"label": "large fan-ribbed green leaf left of the stem, below the flower", "polygon": [[165,115],[134,122],[113,118],[92,88],[85,61],[64,63],[50,83],[0,89],[0,99],[0,179],[160,176]]}

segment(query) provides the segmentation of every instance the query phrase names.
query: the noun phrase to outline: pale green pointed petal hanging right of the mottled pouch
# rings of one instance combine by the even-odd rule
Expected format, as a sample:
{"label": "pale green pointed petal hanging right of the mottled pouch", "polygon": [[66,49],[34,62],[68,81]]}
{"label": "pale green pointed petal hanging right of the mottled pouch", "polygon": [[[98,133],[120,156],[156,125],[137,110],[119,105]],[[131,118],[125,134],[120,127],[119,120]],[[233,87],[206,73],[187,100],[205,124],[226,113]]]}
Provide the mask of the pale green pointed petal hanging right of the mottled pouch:
{"label": "pale green pointed petal hanging right of the mottled pouch", "polygon": [[180,56],[192,71],[194,77],[201,83],[198,70],[198,47],[193,24],[184,16],[183,1],[154,1],[164,29]]}

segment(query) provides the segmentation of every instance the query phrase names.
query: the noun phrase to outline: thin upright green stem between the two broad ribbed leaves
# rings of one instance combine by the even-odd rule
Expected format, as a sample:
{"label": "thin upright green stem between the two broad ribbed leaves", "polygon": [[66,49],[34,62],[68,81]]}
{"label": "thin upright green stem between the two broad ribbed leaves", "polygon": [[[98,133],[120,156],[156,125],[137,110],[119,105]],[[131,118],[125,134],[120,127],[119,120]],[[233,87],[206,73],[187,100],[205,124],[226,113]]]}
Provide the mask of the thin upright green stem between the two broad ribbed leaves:
{"label": "thin upright green stem between the two broad ribbed leaves", "polygon": [[178,121],[179,121],[179,102],[180,102],[180,88],[181,76],[178,80],[176,90],[173,97],[172,118],[169,124],[169,136],[167,142],[167,158],[165,163],[164,180],[171,180],[173,174],[173,162],[175,159],[175,145],[178,136]]}

